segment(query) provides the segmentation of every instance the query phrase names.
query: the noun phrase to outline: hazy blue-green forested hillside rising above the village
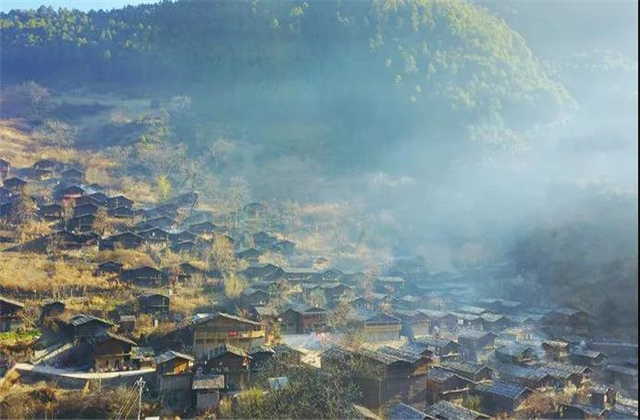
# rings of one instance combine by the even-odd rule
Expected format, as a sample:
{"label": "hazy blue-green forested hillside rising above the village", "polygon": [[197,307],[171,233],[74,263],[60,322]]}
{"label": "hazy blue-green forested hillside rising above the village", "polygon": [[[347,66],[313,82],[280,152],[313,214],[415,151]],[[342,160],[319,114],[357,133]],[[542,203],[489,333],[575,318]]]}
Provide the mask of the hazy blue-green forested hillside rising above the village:
{"label": "hazy blue-green forested hillside rising above the village", "polygon": [[182,0],[0,22],[7,82],[190,94],[204,116],[250,131],[261,119],[321,121],[325,154],[417,131],[425,142],[515,142],[569,102],[517,33],[462,1]]}

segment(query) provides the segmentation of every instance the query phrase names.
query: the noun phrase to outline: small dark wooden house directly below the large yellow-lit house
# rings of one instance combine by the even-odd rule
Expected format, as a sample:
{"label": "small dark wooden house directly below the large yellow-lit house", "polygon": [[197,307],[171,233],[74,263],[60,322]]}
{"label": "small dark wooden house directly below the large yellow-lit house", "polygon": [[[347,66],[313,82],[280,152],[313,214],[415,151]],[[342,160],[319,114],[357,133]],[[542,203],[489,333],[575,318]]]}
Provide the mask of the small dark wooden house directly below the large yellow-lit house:
{"label": "small dark wooden house directly below the large yellow-lit house", "polygon": [[224,375],[227,387],[239,391],[249,383],[250,361],[246,349],[223,344],[206,356],[205,369]]}

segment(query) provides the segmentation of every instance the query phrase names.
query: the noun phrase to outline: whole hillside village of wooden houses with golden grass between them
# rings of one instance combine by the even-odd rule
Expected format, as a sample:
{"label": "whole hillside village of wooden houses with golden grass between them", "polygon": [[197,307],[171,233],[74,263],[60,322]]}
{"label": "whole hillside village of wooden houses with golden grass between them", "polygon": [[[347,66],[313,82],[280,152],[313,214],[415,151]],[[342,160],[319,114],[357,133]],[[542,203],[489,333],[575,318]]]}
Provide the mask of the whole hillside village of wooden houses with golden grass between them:
{"label": "whole hillside village of wooden houses with golden grass between them", "polygon": [[2,392],[41,381],[133,389],[142,378],[140,398],[162,401],[150,416],[225,418],[248,390],[293,386],[264,382],[279,363],[349,372],[363,419],[638,416],[638,343],[595,336],[599,320],[581,308],[496,298],[402,261],[345,272],[303,255],[268,204],[221,218],[181,191],[151,206],[87,185],[87,169],[0,158],[4,226],[51,228],[19,244],[3,237],[2,253],[83,260],[109,302],[78,304],[91,290],[2,290]]}

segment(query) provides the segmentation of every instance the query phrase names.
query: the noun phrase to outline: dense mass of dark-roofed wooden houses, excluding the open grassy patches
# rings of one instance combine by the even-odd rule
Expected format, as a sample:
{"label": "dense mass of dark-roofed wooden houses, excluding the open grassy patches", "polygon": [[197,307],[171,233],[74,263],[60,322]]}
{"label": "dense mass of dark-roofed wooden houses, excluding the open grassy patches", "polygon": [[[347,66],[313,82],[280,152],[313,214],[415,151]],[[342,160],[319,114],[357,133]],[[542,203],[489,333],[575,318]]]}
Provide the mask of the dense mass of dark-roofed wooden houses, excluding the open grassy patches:
{"label": "dense mass of dark-roofed wooden houses, excluding the open grassy patches", "polygon": [[[159,286],[220,273],[190,263],[125,268],[102,262],[96,275],[138,288],[135,302],[109,319],[68,313],[62,301],[42,302],[38,322],[55,334],[43,333],[34,365],[140,370],[153,376],[158,393],[182,395],[197,411],[214,411],[222,397],[251,386],[270,359],[282,358],[309,369],[349,370],[362,391],[362,412],[390,407],[392,419],[515,416],[536,394],[556,402],[545,414],[557,418],[638,414],[637,343],[591,338],[594,319],[579,308],[479,298],[466,279],[451,275],[389,272],[369,278],[336,268],[260,264],[268,252],[291,261],[295,244],[265,231],[248,234],[214,224],[194,210],[196,193],[147,209],[122,195],[109,196],[99,185],[85,185],[82,171],[48,160],[14,171],[0,159],[0,176],[2,217],[11,214],[29,182],[51,183],[54,191],[53,197],[34,197],[34,217],[57,224],[56,232],[10,252],[45,252],[54,243],[61,249],[158,247],[197,255],[224,236],[247,267],[240,274],[248,287],[233,306],[197,314],[166,337],[137,343],[131,334],[137,314],[175,321],[172,296],[158,293]],[[188,215],[178,217],[185,210]],[[243,212],[261,218],[267,210],[251,203]],[[121,221],[108,235],[95,229],[104,215]],[[21,328],[23,310],[22,303],[0,296],[0,331]],[[345,345],[345,335],[360,345]],[[272,390],[287,383],[269,380]],[[571,389],[587,389],[586,399],[554,399]],[[471,399],[479,401],[474,410],[465,408]]]}

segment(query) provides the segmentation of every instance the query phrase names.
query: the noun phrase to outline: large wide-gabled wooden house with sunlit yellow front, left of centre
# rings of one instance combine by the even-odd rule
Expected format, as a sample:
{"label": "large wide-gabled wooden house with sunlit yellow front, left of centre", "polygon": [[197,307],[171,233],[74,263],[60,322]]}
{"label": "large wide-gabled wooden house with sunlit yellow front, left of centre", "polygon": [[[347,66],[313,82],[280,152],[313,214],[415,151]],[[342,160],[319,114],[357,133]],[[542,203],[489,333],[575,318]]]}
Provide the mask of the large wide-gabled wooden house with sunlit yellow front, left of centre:
{"label": "large wide-gabled wooden house with sunlit yellow front, left of centre", "polygon": [[192,329],[193,351],[198,358],[224,344],[248,349],[265,339],[263,324],[222,312],[196,318]]}

